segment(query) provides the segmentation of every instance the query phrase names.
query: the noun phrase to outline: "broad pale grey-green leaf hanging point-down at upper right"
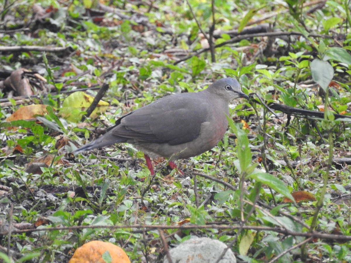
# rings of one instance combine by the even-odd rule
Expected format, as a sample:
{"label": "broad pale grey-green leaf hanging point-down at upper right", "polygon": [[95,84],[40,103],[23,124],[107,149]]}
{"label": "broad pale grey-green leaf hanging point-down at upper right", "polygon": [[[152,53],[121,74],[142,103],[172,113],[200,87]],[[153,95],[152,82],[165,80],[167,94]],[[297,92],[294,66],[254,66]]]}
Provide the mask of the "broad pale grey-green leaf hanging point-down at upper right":
{"label": "broad pale grey-green leaf hanging point-down at upper right", "polygon": [[312,79],[326,91],[330,81],[333,79],[334,69],[327,61],[314,59],[311,62],[311,74]]}

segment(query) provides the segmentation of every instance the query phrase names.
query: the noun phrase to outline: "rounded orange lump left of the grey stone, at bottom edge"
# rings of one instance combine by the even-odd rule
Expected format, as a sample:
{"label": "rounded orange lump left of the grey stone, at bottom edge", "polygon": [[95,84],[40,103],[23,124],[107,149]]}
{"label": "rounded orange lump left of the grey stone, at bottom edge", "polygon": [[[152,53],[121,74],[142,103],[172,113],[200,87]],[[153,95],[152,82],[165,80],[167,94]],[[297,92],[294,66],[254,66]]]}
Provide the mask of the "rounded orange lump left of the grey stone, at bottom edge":
{"label": "rounded orange lump left of the grey stone, at bottom edge", "polygon": [[111,263],[130,263],[127,254],[112,243],[103,241],[91,241],[78,248],[68,263],[104,263],[102,254],[110,253]]}

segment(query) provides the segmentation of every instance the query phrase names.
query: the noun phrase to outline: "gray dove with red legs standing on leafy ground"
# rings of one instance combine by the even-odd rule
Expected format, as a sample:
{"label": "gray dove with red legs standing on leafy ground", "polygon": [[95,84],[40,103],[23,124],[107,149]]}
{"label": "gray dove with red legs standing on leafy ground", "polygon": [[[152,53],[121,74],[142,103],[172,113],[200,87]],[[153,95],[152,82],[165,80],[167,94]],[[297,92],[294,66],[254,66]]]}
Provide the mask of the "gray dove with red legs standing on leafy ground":
{"label": "gray dove with red legs standing on leafy ground", "polygon": [[240,97],[249,99],[230,77],[200,92],[163,97],[120,117],[104,135],[75,153],[127,142],[144,152],[152,175],[150,157],[166,157],[170,167],[178,169],[174,160],[202,154],[218,144],[227,130],[229,103]]}

